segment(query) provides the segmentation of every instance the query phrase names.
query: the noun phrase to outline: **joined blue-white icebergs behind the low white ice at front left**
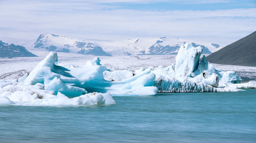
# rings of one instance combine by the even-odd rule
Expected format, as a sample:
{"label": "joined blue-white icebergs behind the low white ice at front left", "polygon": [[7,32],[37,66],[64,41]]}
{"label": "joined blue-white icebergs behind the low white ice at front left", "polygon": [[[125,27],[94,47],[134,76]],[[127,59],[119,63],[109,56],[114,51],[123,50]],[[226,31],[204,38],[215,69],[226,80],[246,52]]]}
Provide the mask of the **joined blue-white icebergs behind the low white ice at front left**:
{"label": "joined blue-white icebergs behind the low white ice at front left", "polygon": [[[35,82],[45,84],[47,90],[69,96],[78,96],[86,92],[110,92],[113,96],[150,96],[155,95],[157,91],[238,91],[238,86],[233,83],[240,83],[242,79],[232,71],[216,70],[204,55],[200,61],[202,51],[203,48],[200,46],[194,47],[185,43],[176,56],[176,65],[141,68],[134,72],[109,71],[106,66],[100,64],[99,58],[88,61],[84,66],[64,68],[55,65],[58,61],[57,55],[50,53],[29,76],[34,77],[32,84],[36,79]],[[37,74],[33,75],[34,73]],[[29,76],[26,82],[31,80]]]}

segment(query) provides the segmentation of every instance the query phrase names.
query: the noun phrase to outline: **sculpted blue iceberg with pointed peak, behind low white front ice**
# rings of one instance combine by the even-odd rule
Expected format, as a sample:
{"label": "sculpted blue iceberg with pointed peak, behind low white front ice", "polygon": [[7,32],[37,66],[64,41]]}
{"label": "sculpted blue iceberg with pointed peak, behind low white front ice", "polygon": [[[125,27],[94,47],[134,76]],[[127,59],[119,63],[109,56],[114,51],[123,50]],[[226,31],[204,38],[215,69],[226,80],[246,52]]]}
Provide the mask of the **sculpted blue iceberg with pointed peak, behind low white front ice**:
{"label": "sculpted blue iceberg with pointed peak, behind low white front ice", "polygon": [[128,75],[126,77],[130,78],[124,80],[108,81],[103,76],[107,68],[100,64],[99,58],[79,67],[65,68],[57,63],[57,53],[51,52],[28,75],[25,83],[42,83],[46,90],[67,96],[78,96],[86,92],[110,92],[114,96],[150,96],[157,93],[157,88],[153,86],[155,74],[151,73],[151,69],[135,76]]}

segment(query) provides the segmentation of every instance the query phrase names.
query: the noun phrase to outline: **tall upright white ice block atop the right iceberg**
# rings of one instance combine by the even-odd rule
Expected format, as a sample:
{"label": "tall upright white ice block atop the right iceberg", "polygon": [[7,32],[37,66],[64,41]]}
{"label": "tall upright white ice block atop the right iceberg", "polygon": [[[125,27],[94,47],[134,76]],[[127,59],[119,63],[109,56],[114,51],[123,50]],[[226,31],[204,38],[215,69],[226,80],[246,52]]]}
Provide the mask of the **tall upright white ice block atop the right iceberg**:
{"label": "tall upright white ice block atop the right iceberg", "polygon": [[196,71],[202,50],[203,48],[201,46],[193,47],[192,44],[188,43],[181,45],[176,56],[176,76],[190,76],[191,73]]}

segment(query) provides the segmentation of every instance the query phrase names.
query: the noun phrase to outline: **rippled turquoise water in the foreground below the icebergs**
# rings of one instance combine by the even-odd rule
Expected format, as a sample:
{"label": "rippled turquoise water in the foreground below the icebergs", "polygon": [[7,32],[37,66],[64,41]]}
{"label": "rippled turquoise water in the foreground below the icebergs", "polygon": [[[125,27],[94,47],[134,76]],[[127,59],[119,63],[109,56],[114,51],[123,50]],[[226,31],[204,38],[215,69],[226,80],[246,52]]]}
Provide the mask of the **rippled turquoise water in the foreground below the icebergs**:
{"label": "rippled turquoise water in the foreground below the icebergs", "polygon": [[0,142],[256,142],[256,90],[0,107]]}

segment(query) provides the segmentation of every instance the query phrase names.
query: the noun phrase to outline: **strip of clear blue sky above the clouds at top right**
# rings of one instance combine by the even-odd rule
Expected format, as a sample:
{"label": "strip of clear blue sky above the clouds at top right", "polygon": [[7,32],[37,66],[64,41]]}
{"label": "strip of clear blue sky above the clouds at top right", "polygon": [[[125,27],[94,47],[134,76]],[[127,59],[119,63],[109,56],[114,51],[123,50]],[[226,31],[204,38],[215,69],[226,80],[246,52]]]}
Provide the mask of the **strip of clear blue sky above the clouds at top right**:
{"label": "strip of clear blue sky above the clouds at top right", "polygon": [[255,8],[256,1],[158,1],[148,3],[105,3],[105,5],[120,6],[122,9],[173,11],[173,10],[225,10],[240,8]]}

